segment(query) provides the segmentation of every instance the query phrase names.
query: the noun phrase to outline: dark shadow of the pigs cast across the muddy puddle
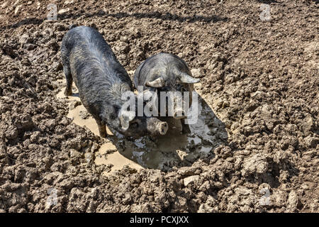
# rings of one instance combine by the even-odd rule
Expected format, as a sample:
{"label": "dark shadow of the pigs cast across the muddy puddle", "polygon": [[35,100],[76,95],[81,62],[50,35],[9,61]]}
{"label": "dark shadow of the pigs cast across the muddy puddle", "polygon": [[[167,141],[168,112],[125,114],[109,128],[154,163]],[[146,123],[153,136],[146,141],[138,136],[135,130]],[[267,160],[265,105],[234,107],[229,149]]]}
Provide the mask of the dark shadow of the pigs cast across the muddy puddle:
{"label": "dark shadow of the pigs cast across the muddy puddle", "polygon": [[[196,106],[196,105],[195,105]],[[169,123],[166,135],[157,138],[143,137],[138,140],[113,137],[113,143],[124,157],[142,167],[170,170],[172,167],[191,166],[198,159],[214,157],[213,150],[228,143],[225,123],[198,95],[198,118],[190,124],[191,133],[181,135],[181,123],[172,117],[161,118]]]}

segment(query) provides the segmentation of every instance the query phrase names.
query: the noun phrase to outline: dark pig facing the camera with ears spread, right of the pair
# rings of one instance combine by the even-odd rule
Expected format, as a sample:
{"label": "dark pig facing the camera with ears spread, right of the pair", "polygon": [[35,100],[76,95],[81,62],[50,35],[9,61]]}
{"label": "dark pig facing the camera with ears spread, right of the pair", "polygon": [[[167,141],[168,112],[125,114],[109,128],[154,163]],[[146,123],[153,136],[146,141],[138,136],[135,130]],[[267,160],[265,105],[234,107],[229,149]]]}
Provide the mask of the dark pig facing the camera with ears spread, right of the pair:
{"label": "dark pig facing the camera with ears spread, right of the pair", "polygon": [[[191,92],[194,91],[194,83],[199,79],[191,76],[191,70],[184,60],[176,55],[161,52],[142,62],[135,70],[134,85],[142,86],[152,92],[189,92],[189,106],[191,106]],[[185,123],[186,109],[177,109],[177,103],[184,105],[184,99],[174,96],[173,117],[181,119],[181,133],[190,133],[189,125]],[[159,107],[160,109],[160,107]],[[177,113],[180,114],[177,114]]]}

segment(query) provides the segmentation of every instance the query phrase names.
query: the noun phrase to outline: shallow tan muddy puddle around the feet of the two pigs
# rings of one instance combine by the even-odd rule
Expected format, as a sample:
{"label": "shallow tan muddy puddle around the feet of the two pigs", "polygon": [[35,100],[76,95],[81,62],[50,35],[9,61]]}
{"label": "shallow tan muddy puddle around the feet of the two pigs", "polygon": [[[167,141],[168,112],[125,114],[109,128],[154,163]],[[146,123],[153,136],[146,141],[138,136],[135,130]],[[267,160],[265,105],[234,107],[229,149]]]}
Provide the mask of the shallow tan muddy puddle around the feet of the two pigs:
{"label": "shallow tan muddy puddle around the feet of the two pigs", "polygon": [[[94,118],[87,113],[81,104],[76,87],[72,87],[73,96],[65,96],[65,80],[57,82],[60,92],[57,98],[69,102],[70,109],[67,116],[79,126],[88,128],[92,133],[99,135]],[[211,108],[204,100],[199,101],[198,108],[201,114],[194,125],[190,125],[191,134],[181,135],[181,123],[174,118],[162,118],[169,123],[167,135],[157,138],[143,137],[138,140],[128,140],[121,135],[113,134],[107,128],[110,138],[96,152],[96,165],[113,165],[111,174],[128,165],[136,170],[142,168],[169,169],[173,166],[189,165],[196,159],[205,157],[212,149],[220,144],[220,138],[227,138],[223,124],[216,118]],[[213,122],[213,127],[208,123]],[[219,133],[219,134],[218,134]]]}

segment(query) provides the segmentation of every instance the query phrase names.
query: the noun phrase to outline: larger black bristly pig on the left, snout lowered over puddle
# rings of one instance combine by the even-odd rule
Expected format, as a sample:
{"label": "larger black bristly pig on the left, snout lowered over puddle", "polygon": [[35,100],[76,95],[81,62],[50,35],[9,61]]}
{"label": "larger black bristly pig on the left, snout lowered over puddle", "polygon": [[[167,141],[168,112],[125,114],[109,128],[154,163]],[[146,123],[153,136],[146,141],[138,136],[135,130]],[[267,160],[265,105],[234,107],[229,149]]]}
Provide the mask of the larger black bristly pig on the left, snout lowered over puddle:
{"label": "larger black bristly pig on the left, snout lowered over puddle", "polygon": [[132,114],[134,111],[121,109],[125,103],[121,99],[122,94],[133,92],[133,84],[103,36],[86,26],[70,28],[61,46],[63,71],[67,79],[65,95],[72,95],[74,80],[82,104],[99,126],[100,136],[107,136],[106,125],[135,138],[164,135],[168,128],[166,122],[154,117],[135,116],[135,113]]}

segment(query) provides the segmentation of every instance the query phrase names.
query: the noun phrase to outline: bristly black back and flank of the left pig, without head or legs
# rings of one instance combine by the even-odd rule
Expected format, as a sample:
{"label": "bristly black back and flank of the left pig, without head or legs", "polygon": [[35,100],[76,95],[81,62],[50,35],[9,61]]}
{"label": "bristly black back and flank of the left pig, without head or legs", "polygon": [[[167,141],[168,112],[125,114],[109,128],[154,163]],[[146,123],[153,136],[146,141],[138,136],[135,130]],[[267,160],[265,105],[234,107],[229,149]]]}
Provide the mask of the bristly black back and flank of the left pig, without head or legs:
{"label": "bristly black back and flank of the left pig, without head or legs", "polygon": [[127,72],[103,36],[94,28],[72,28],[64,40],[69,51],[71,74],[80,98],[96,104],[133,90]]}

